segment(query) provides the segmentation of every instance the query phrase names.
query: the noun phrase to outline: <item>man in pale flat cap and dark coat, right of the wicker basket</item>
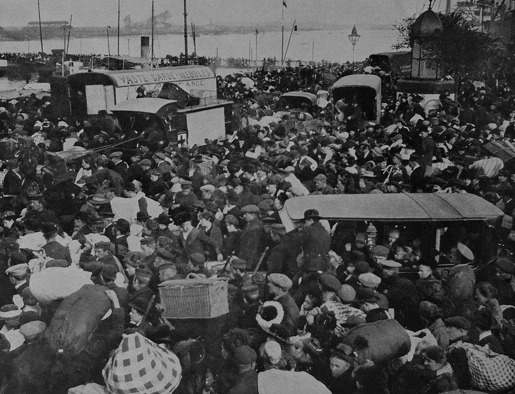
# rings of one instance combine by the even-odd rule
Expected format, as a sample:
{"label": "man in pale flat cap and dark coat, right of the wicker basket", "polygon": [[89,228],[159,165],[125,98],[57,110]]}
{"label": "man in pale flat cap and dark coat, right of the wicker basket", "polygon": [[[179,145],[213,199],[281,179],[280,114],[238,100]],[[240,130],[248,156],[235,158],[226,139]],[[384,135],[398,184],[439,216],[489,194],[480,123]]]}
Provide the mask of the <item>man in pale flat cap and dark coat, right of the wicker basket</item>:
{"label": "man in pale flat cap and dark coat, right of the wicker basket", "polygon": [[283,307],[284,317],[280,324],[287,329],[289,335],[295,335],[300,314],[299,307],[288,293],[292,284],[291,279],[284,274],[268,275],[268,291]]}

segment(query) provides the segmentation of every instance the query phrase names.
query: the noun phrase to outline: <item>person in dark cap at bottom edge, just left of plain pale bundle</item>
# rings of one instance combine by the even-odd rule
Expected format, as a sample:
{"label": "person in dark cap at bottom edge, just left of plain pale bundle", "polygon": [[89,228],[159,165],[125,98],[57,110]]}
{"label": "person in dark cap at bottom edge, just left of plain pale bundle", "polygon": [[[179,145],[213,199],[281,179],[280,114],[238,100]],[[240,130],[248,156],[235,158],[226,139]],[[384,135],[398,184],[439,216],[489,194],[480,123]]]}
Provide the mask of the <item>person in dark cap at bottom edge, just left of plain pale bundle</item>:
{"label": "person in dark cap at bottom edge, just left of plain pale bundle", "polygon": [[238,380],[229,394],[259,394],[258,373],[254,371],[256,359],[256,352],[249,346],[236,348],[233,362],[238,368]]}

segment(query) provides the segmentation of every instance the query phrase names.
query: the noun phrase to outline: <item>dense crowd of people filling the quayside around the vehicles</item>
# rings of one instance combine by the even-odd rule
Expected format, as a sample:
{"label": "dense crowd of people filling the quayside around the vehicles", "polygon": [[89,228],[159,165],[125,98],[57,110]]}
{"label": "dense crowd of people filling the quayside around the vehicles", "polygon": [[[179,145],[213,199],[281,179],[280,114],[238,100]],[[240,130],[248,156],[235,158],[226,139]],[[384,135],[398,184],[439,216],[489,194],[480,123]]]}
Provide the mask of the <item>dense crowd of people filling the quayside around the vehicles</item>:
{"label": "dense crowd of people filling the quayside around the vehicles", "polygon": [[[134,332],[175,349],[181,393],[264,392],[270,370],[307,372],[334,394],[513,389],[511,224],[499,232],[504,257],[474,271],[481,235],[465,225],[446,228],[437,250],[402,226],[370,244],[368,223],[328,222],[318,206],[291,231],[280,219],[297,196],[429,192],[477,194],[509,222],[513,162],[484,146],[513,142],[510,87],[470,81],[428,112],[421,97],[386,88],[376,124],[323,89],[359,71],[218,77],[219,95],[237,103],[234,133],[202,147],[158,129],[128,139],[105,115],[55,118],[49,98],[0,102],[4,392],[104,385],[110,352]],[[280,99],[298,89],[318,93],[317,105]],[[196,327],[163,318],[160,283],[214,276],[228,280],[229,313]],[[104,286],[95,294],[111,312],[67,311],[76,320],[64,329],[56,319],[77,293],[61,293],[78,278]],[[195,357],[199,326],[205,355]],[[74,341],[61,338],[71,327]]]}

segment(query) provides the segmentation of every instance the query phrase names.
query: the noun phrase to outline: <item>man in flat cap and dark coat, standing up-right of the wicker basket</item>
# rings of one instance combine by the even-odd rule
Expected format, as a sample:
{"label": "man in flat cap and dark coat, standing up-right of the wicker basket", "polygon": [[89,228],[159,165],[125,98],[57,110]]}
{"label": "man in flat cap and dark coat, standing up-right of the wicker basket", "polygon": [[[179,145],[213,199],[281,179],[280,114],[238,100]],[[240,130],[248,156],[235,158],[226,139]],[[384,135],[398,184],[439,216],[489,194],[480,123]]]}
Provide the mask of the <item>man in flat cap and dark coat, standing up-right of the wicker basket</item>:
{"label": "man in flat cap and dark coat, standing up-right of the wicker basket", "polygon": [[265,226],[258,217],[259,211],[259,207],[252,204],[242,208],[243,218],[247,224],[239,237],[238,257],[247,261],[247,271],[252,271],[258,264],[266,247]]}

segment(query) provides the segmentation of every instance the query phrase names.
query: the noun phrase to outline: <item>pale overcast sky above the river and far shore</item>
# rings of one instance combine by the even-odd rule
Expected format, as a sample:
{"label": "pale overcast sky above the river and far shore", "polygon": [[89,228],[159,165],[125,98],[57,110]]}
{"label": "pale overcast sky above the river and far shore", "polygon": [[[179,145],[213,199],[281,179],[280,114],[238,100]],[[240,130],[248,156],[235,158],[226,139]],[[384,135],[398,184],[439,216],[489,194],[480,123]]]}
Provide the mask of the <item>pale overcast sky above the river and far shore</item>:
{"label": "pale overcast sky above the river and far shore", "polygon": [[[151,0],[120,0],[121,24],[150,17]],[[333,24],[393,24],[427,8],[427,0],[285,0],[285,20]],[[440,3],[442,0],[440,0]],[[445,6],[443,0],[443,5]],[[258,25],[281,20],[282,0],[187,0],[188,24]],[[435,2],[434,9],[438,6]],[[42,21],[69,21],[73,26],[116,26],[117,0],[40,0]],[[182,0],[155,0],[155,13],[168,9],[172,24],[183,23]],[[38,21],[37,0],[0,0],[0,26],[25,26]]]}

